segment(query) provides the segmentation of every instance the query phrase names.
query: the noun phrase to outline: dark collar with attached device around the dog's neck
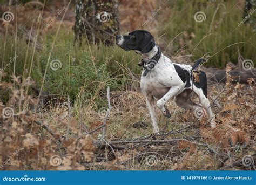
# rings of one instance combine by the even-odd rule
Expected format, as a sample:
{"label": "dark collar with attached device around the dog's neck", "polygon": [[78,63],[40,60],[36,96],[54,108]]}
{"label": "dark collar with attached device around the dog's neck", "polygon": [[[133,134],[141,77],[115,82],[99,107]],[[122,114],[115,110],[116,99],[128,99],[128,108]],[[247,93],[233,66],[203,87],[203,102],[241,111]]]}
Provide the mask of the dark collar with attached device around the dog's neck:
{"label": "dark collar with attached device around the dog's neck", "polygon": [[145,61],[144,59],[140,60],[140,63],[138,64],[140,67],[145,70],[143,73],[143,77],[147,75],[153,68],[157,65],[159,59],[161,57],[161,50],[160,47],[158,46],[158,51],[157,53],[149,60]]}

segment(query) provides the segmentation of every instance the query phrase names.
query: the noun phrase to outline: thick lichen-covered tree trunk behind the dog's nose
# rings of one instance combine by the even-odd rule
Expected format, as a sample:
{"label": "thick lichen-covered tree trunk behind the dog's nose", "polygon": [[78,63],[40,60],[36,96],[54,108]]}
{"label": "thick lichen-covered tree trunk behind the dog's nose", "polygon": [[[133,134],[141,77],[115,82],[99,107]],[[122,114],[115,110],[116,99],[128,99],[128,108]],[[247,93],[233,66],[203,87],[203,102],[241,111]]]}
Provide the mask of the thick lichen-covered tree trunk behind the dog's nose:
{"label": "thick lichen-covered tree trunk behind the dog's nose", "polygon": [[118,3],[116,0],[76,0],[75,42],[106,46],[114,44],[119,32]]}

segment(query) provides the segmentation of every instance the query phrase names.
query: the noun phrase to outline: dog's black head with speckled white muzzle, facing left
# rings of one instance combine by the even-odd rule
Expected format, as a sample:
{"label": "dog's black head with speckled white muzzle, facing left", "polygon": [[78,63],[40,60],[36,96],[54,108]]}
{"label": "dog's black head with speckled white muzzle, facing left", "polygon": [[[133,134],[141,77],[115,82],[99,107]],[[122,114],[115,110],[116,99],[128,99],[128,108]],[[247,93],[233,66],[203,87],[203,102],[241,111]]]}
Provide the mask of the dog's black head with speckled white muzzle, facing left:
{"label": "dog's black head with speckled white muzzle, facing left", "polygon": [[149,31],[136,30],[128,35],[116,35],[116,43],[126,51],[134,50],[140,53],[147,53],[156,45],[154,37]]}

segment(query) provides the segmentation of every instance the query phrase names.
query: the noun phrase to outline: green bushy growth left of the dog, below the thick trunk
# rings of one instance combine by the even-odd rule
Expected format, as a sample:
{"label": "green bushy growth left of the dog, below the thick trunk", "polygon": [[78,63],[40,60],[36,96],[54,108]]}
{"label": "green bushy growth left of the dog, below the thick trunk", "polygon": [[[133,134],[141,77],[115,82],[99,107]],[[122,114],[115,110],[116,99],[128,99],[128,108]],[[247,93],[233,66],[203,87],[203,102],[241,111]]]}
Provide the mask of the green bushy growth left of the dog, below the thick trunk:
{"label": "green bushy growth left of the dog, below the thick trunk", "polygon": [[[85,102],[103,90],[105,93],[107,85],[111,90],[125,88],[129,83],[128,67],[134,73],[140,72],[137,65],[139,57],[133,52],[125,52],[117,46],[105,47],[102,44],[78,47],[71,44],[73,33],[60,31],[59,35],[52,52],[51,44],[54,38],[52,35],[47,35],[39,40],[42,47],[35,53],[33,53],[33,43],[28,46],[18,37],[15,61],[11,60],[15,53],[15,37],[9,36],[5,50],[0,51],[3,56],[3,66],[7,66],[4,72],[7,73],[8,79],[4,80],[11,80],[15,68],[16,76],[26,78],[30,74],[39,87],[44,82],[43,90],[50,94],[63,97],[69,95],[71,101],[75,101],[77,95],[83,93],[79,95],[78,101]],[[0,40],[0,44],[4,45],[4,42],[4,39]]]}

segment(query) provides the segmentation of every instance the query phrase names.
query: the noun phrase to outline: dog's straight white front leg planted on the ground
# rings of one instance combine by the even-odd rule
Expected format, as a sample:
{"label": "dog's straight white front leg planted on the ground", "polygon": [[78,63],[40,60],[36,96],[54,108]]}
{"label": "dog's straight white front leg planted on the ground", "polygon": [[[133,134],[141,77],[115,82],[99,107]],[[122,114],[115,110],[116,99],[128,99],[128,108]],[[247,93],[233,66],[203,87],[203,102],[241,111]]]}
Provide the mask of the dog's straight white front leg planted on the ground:
{"label": "dog's straight white front leg planted on the ground", "polygon": [[154,98],[152,95],[149,95],[149,94],[145,95],[145,97],[146,97],[147,108],[149,109],[150,116],[151,116],[153,132],[154,134],[157,134],[159,132],[159,127],[157,125],[157,113],[154,108]]}

